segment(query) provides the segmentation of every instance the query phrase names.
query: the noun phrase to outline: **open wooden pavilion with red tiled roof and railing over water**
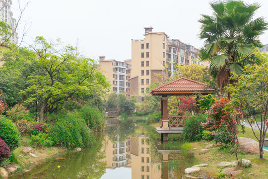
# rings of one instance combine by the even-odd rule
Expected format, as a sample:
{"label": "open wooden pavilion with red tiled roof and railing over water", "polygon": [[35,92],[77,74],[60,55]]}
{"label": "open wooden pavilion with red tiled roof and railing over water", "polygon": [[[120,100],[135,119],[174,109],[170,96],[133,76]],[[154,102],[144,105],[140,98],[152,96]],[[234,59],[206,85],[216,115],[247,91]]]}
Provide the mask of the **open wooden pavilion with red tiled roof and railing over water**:
{"label": "open wooden pavilion with red tiled roof and railing over water", "polygon": [[[152,95],[162,95],[161,98],[161,125],[156,131],[161,134],[161,142],[168,141],[169,133],[182,133],[183,125],[188,116],[168,116],[168,96],[171,95],[196,95],[198,104],[199,94],[213,93],[215,89],[187,78],[179,78],[170,83],[152,89]],[[197,106],[197,112],[199,107]]]}

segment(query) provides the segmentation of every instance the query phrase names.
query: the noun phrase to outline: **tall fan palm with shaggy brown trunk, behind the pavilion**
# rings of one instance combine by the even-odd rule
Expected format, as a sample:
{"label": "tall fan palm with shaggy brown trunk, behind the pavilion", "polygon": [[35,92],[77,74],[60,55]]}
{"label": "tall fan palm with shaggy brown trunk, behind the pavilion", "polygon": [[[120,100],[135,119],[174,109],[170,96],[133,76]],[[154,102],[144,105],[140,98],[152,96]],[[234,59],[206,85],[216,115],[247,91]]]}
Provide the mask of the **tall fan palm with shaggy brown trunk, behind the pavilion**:
{"label": "tall fan palm with shaggy brown trunk, behind the pavilion", "polygon": [[268,27],[263,17],[253,19],[259,3],[248,4],[241,0],[212,1],[211,16],[203,15],[198,37],[205,39],[200,50],[201,61],[210,63],[209,72],[219,88],[231,84],[232,73],[242,75],[243,67],[259,64],[253,54],[255,47],[262,47],[257,38]]}

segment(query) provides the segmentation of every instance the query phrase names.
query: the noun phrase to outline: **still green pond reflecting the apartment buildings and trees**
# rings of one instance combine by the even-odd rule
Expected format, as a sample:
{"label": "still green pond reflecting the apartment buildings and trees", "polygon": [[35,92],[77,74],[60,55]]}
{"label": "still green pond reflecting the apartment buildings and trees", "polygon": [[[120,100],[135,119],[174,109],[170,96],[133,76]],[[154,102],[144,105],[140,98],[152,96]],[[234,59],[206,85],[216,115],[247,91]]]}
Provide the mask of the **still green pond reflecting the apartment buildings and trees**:
{"label": "still green pond reflecting the apartment buildings and trees", "polygon": [[194,156],[178,144],[176,150],[161,147],[159,137],[131,120],[110,124],[93,148],[55,156],[10,179],[180,179]]}

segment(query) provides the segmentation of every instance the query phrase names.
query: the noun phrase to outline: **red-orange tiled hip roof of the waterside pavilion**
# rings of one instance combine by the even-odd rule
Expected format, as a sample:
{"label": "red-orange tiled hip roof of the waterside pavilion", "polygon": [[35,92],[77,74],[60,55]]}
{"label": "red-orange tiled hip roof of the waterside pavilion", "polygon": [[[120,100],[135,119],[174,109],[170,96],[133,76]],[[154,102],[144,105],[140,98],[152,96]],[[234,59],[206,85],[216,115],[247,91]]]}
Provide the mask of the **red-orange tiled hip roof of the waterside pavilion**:
{"label": "red-orange tiled hip roof of the waterside pavilion", "polygon": [[213,91],[214,89],[203,83],[181,77],[170,83],[152,89],[151,93],[152,95],[194,95],[196,93],[213,93]]}

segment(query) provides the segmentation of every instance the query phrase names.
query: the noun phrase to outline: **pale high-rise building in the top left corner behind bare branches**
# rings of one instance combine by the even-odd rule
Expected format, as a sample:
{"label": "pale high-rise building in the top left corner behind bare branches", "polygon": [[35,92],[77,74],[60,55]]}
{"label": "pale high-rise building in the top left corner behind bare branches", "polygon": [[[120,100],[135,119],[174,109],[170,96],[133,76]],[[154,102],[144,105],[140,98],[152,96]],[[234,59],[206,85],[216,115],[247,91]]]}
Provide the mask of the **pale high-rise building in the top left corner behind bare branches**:
{"label": "pale high-rise building in the top left corner behind bare branches", "polygon": [[[11,5],[12,0],[0,0],[0,20],[10,25],[12,31],[14,31],[16,28],[16,19],[12,17],[13,13],[10,9]],[[17,32],[15,32],[9,40],[11,43],[16,44],[18,42]]]}

